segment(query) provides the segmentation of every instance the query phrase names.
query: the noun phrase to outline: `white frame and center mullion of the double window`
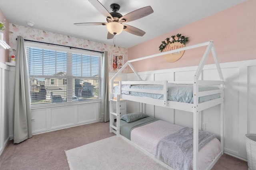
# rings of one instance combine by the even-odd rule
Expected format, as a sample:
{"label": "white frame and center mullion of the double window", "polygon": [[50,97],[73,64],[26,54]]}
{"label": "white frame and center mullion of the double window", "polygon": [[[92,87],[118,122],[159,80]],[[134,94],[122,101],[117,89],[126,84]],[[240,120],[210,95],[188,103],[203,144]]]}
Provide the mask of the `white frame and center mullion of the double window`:
{"label": "white frame and center mullion of the double window", "polygon": [[[100,71],[99,71],[99,79],[97,80],[100,80],[99,82],[99,90],[100,90],[100,93],[102,91],[102,53],[100,52],[93,52],[93,51],[88,51],[88,50],[82,50],[82,49],[76,49],[74,47],[74,49],[70,48],[70,47],[60,47],[58,45],[45,45],[45,44],[40,44],[40,43],[31,43],[31,42],[26,42],[24,43],[25,45],[25,49],[27,47],[35,47],[35,48],[41,48],[41,49],[49,49],[49,50],[55,50],[55,51],[63,51],[63,52],[67,52],[67,53],[78,53],[78,54],[82,54],[82,55],[92,55],[92,56],[97,56],[97,57],[100,57],[101,58],[101,62],[100,62]],[[71,65],[71,68],[68,68],[67,70],[67,75],[70,74],[70,69],[71,69],[71,75],[68,75],[69,78],[76,78],[76,79],[86,79],[86,78],[90,78],[90,77],[85,77],[85,76],[82,76],[82,77],[78,77],[78,76],[73,76],[72,75],[72,58],[70,59],[71,61],[67,61],[67,62],[70,62],[69,65]],[[34,78],[42,78],[42,76],[33,76]],[[32,78],[30,77],[29,75],[29,78]],[[68,85],[67,83],[67,77],[65,77],[66,79],[66,85]],[[69,89],[72,89],[72,87],[70,86],[67,86],[67,91],[68,91],[68,88]],[[35,104],[35,105],[31,105],[31,108],[36,108],[36,107],[48,107],[48,106],[63,106],[63,105],[69,105],[69,104],[84,104],[84,103],[95,103],[95,102],[101,102],[101,97],[102,96],[99,96],[98,99],[92,99],[92,100],[84,100],[84,101],[72,101],[72,96],[69,96],[68,98],[68,94],[67,94],[67,101],[66,102],[61,102],[61,103],[47,103],[47,104]]]}

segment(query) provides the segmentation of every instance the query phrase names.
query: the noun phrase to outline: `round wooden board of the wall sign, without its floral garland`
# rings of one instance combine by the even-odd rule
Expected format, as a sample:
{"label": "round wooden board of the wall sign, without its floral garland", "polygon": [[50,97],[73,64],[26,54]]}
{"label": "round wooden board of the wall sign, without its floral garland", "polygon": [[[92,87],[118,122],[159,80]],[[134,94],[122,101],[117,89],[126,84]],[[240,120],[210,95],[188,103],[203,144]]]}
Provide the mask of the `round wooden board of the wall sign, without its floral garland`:
{"label": "round wooden board of the wall sign, without its floral garland", "polygon": [[[169,43],[163,50],[163,52],[166,52],[166,51],[171,51],[171,50],[174,50],[174,49],[180,49],[182,47],[185,47],[186,45],[184,44],[181,44],[179,42],[174,42],[174,43]],[[164,55],[164,59],[168,62],[174,62],[174,61],[177,61],[178,59],[180,59],[182,57],[182,55],[184,54],[184,50],[183,51],[178,51],[178,52],[175,52],[175,53],[170,53],[170,54],[166,54]]]}

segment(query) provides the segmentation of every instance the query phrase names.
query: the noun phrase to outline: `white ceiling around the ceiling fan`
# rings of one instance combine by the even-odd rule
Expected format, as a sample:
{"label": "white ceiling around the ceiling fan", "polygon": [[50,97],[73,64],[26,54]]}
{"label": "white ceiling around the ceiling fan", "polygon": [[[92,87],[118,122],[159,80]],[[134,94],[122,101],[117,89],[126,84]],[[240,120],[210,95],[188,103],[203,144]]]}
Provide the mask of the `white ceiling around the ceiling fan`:
{"label": "white ceiling around the ceiling fan", "polygon": [[[154,13],[136,21],[128,22],[146,32],[143,37],[122,31],[116,35],[116,45],[130,48],[172,30],[206,18],[212,14],[240,4],[246,0],[98,0],[108,12],[110,4],[119,4],[123,16],[145,6]],[[106,18],[87,0],[0,0],[0,9],[9,23],[34,28],[100,43],[113,45],[107,39],[105,25],[76,26],[73,23],[106,22]],[[171,35],[170,35],[171,36]]]}

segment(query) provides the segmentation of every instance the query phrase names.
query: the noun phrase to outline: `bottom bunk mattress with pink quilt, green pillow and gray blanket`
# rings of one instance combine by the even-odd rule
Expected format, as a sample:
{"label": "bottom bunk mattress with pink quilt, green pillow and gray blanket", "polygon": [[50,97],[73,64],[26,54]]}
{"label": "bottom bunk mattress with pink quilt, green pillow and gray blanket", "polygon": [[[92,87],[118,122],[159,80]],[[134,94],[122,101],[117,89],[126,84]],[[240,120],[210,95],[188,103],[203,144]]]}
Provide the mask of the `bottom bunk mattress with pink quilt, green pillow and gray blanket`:
{"label": "bottom bunk mattress with pink quilt, green pillow and gray blanket", "polygon": [[[127,117],[131,117],[128,119]],[[193,169],[193,129],[148,117],[126,114],[120,120],[120,134],[174,169]],[[199,131],[199,169],[206,169],[221,152],[215,135]]]}

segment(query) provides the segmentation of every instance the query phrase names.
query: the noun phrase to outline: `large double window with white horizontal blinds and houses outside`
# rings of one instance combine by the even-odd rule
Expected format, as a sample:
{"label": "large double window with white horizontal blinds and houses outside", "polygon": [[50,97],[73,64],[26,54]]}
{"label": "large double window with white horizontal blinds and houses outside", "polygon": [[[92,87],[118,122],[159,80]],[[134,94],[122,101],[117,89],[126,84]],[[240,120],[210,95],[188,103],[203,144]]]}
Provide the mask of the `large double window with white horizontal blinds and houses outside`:
{"label": "large double window with white horizontal blinds and houses outside", "polygon": [[26,46],[31,105],[101,99],[101,54],[39,46]]}

